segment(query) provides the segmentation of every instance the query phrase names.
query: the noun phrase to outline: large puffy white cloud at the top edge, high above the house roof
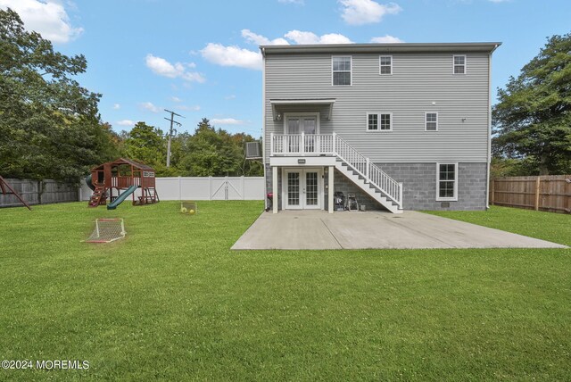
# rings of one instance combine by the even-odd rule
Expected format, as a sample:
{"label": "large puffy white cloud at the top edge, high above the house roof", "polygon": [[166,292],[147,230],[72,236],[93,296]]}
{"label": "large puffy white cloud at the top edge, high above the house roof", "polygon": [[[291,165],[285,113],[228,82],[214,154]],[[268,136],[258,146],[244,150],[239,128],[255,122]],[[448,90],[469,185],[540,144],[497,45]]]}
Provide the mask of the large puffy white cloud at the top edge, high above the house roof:
{"label": "large puffy white cloud at the top edge, high above the house roof", "polygon": [[378,4],[373,0],[337,0],[343,5],[343,20],[350,25],[371,24],[381,21],[385,14],[402,11],[398,4]]}

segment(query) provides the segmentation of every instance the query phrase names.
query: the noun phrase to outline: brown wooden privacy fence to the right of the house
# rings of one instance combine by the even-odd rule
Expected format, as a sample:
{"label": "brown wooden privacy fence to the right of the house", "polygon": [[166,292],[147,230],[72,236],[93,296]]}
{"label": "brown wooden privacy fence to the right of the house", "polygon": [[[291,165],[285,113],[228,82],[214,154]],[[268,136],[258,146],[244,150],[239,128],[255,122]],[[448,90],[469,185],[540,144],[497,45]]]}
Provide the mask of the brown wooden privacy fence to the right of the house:
{"label": "brown wooden privacy fence to the right of the house", "polygon": [[490,203],[535,211],[571,213],[571,175],[492,179]]}

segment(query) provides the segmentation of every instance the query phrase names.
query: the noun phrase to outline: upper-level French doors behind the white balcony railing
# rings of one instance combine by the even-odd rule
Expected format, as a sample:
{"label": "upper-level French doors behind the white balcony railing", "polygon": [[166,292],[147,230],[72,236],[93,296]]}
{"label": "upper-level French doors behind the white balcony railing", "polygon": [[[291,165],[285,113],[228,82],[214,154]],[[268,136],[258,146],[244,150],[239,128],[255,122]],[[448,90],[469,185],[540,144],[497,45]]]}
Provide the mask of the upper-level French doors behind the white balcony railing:
{"label": "upper-level French doors behind the white balcony railing", "polygon": [[[309,137],[302,141],[302,133]],[[286,114],[285,134],[289,153],[314,153],[315,137],[312,136],[319,134],[319,113]]]}

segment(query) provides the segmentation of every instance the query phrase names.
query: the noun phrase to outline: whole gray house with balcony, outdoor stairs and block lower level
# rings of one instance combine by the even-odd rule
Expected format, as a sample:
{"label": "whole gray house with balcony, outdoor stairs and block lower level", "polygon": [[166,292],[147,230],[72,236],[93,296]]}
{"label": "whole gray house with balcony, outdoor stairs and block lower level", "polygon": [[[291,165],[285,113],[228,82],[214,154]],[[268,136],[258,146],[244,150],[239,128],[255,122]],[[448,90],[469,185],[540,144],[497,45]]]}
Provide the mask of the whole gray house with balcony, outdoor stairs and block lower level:
{"label": "whole gray house with balcony, outdoor stairs and block lower level", "polygon": [[500,43],[261,46],[273,212],[484,210]]}

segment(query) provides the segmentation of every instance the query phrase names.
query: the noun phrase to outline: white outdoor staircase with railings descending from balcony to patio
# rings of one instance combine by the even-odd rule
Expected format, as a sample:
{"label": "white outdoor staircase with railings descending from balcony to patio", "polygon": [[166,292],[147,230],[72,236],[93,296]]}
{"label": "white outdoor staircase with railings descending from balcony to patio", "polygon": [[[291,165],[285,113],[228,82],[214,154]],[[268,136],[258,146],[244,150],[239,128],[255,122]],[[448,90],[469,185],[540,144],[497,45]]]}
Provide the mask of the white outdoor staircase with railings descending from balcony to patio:
{"label": "white outdoor staircase with railings descending from balcony to patio", "polygon": [[402,183],[392,179],[375,163],[333,133],[335,168],[378,203],[393,213],[402,212]]}

